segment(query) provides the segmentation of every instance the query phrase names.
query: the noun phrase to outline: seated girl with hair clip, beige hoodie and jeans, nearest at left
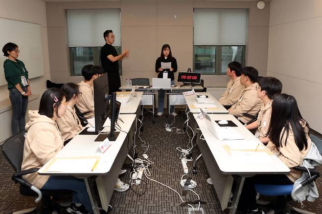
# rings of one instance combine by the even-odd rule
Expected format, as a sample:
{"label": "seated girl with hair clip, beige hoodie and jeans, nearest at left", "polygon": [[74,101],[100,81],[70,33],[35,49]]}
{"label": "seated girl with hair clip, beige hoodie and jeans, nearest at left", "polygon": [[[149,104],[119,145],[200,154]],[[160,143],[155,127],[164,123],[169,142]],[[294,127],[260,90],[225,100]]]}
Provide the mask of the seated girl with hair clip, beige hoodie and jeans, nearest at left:
{"label": "seated girl with hair clip, beige hoodie and jeans, nearest at left", "polygon": [[[60,89],[49,88],[40,100],[39,110],[28,112],[30,121],[25,126],[27,134],[23,148],[22,170],[43,167],[64,147],[64,139],[56,126],[56,121],[64,115],[67,106],[64,93]],[[38,189],[74,191],[73,203],[68,209],[73,208],[74,203],[81,203],[83,206],[79,209],[86,209],[86,213],[92,213],[83,179],[73,176],[40,175],[38,172],[23,175],[23,178]],[[73,209],[76,213],[77,209]]]}

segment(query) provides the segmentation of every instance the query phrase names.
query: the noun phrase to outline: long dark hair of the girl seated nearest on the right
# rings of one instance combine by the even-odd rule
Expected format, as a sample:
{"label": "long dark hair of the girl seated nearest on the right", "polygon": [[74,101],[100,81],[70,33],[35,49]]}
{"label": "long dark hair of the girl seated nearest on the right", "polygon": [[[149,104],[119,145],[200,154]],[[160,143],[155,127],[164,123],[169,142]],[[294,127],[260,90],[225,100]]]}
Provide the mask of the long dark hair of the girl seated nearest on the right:
{"label": "long dark hair of the girl seated nearest on the right", "polygon": [[299,150],[307,148],[307,139],[300,121],[309,125],[302,118],[296,99],[288,94],[276,94],[272,103],[271,122],[268,128],[268,136],[276,147],[282,147],[281,139],[286,134],[285,142],[292,128],[294,140]]}

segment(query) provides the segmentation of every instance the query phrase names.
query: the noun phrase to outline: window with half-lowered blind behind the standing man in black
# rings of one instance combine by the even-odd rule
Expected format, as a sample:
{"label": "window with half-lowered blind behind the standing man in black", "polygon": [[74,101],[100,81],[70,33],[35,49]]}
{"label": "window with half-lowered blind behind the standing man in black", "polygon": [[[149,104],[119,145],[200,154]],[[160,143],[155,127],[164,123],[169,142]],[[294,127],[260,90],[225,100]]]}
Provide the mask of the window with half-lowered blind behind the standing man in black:
{"label": "window with half-lowered blind behind the standing man in black", "polygon": [[[119,9],[67,10],[70,74],[81,76],[86,64],[101,65],[100,51],[105,44],[103,33],[112,29],[115,49],[121,53],[121,24]],[[119,73],[122,64],[118,62]]]}

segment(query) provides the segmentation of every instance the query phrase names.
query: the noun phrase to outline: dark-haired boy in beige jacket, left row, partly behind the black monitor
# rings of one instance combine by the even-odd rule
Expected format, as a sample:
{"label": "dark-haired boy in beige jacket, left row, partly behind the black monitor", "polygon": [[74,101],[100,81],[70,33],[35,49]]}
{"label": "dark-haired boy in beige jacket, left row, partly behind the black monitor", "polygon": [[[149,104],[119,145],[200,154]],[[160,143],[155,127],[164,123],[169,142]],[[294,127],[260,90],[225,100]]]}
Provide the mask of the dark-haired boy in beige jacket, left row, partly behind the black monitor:
{"label": "dark-haired boy in beige jacket, left row, partly behind the black monitor", "polygon": [[78,84],[82,96],[78,99],[76,106],[81,112],[91,111],[84,115],[87,119],[94,116],[94,90],[92,89],[92,85],[98,77],[98,73],[92,69],[93,66],[92,64],[87,64],[82,68],[84,80]]}

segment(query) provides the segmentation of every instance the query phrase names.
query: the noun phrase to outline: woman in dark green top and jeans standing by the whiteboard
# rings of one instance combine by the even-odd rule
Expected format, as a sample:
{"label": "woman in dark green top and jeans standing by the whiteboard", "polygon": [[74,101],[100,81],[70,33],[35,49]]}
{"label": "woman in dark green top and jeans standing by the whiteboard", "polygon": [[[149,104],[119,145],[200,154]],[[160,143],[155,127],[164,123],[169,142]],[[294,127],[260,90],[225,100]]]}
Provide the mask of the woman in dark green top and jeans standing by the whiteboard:
{"label": "woman in dark green top and jeans standing by the whiteboard", "polygon": [[17,59],[19,55],[18,45],[6,43],[2,52],[4,56],[8,57],[3,63],[3,68],[12,106],[11,130],[12,135],[15,135],[25,132],[25,115],[31,89],[28,71],[23,62]]}

